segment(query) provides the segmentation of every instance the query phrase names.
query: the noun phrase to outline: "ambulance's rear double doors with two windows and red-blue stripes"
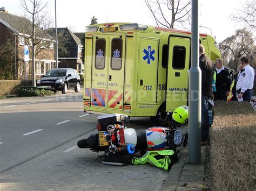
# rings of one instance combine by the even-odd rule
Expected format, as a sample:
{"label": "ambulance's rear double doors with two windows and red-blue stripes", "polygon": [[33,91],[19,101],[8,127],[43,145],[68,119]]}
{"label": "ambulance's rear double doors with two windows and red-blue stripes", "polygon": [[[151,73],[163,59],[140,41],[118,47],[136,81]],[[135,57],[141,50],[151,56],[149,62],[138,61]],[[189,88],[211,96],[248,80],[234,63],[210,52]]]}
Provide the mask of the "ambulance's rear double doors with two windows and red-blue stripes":
{"label": "ambulance's rear double doors with two windows and red-blue stripes", "polygon": [[93,36],[91,106],[123,109],[125,34]]}

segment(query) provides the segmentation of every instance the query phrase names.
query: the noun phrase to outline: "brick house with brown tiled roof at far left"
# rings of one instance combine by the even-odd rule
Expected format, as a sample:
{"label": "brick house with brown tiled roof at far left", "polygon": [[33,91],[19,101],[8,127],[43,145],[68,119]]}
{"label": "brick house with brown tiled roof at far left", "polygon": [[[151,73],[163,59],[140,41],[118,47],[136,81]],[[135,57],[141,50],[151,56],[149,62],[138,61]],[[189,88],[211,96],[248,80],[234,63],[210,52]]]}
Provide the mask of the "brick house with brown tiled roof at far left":
{"label": "brick house with brown tiled roof at far left", "polygon": [[[31,77],[31,22],[24,18],[8,13],[4,8],[0,8],[0,49],[6,45],[8,40],[12,40],[15,49],[15,66],[17,79]],[[36,78],[44,75],[49,69],[56,68],[54,59],[54,39],[50,34],[42,29],[36,29],[36,39],[40,43],[35,47],[35,70]],[[29,46],[30,61],[24,62],[24,45]]]}

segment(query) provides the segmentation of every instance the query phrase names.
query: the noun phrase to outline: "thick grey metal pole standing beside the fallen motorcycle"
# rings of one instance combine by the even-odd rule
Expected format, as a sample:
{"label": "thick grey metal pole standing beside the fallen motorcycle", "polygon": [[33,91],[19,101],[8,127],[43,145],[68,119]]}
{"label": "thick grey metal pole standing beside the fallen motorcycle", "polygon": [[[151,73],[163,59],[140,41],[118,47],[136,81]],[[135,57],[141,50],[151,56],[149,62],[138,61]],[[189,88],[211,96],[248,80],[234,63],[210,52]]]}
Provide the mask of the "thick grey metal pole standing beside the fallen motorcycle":
{"label": "thick grey metal pole standing beside the fallen motorcycle", "polygon": [[192,0],[191,68],[188,84],[188,162],[201,158],[201,69],[199,68],[198,0]]}

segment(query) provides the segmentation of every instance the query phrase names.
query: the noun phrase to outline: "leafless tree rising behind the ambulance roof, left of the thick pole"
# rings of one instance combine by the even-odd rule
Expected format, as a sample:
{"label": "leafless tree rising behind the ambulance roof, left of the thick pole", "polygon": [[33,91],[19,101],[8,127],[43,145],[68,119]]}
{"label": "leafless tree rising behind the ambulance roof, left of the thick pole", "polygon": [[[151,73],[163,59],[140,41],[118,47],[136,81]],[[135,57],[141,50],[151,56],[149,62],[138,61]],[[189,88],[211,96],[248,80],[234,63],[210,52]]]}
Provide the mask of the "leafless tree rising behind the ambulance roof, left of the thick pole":
{"label": "leafless tree rising behind the ambulance roof, left of the thick pole", "polygon": [[157,26],[190,30],[191,0],[145,0]]}

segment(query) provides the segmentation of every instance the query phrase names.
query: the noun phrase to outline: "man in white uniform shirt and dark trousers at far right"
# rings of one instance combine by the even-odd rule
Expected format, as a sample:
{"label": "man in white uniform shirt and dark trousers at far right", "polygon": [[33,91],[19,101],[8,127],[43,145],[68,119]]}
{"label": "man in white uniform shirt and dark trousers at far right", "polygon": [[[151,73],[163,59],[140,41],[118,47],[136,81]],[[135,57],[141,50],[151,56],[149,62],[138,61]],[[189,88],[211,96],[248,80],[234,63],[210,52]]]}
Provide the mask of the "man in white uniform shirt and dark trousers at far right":
{"label": "man in white uniform shirt and dark trousers at far right", "polygon": [[242,70],[237,80],[237,97],[246,102],[250,102],[252,98],[252,88],[254,82],[254,69],[249,65],[247,58],[240,59]]}

